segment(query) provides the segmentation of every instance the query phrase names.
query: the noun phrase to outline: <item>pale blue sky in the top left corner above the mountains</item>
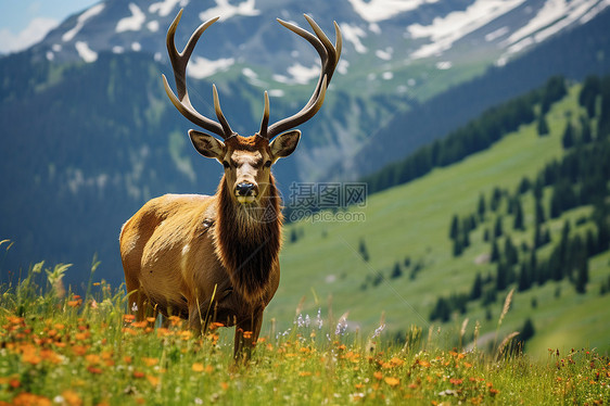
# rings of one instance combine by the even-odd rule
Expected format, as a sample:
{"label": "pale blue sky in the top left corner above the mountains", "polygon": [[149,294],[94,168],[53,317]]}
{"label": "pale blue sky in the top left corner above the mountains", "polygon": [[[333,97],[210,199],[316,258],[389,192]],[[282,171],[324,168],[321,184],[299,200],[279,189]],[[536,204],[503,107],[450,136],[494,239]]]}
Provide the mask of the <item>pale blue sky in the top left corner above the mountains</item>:
{"label": "pale blue sky in the top left corner above the mountains", "polygon": [[100,0],[0,0],[0,53],[25,49]]}

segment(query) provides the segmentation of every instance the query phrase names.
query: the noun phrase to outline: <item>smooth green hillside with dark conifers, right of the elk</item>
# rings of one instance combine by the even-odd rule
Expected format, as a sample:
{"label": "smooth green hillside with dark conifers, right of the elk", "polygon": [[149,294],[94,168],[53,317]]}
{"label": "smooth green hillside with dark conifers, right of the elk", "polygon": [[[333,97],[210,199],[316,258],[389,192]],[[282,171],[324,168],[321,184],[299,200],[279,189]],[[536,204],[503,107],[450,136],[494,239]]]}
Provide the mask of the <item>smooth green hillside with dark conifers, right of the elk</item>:
{"label": "smooth green hillside with dark conifers, right of the elk", "polygon": [[[481,301],[472,301],[466,314],[456,309],[441,330],[436,329],[441,326],[439,320],[430,321],[440,296],[469,293],[476,274],[496,272],[496,265],[481,258],[490,253],[491,246],[483,234],[494,226],[497,216],[488,216],[470,232],[470,246],[458,257],[453,255],[448,236],[452,217],[470,216],[476,211],[480,196],[491,198],[495,188],[513,193],[523,177],[535,179],[545,165],[563,156],[561,138],[567,120],[585,114],[577,102],[580,89],[571,87],[569,94],[552,105],[546,115],[546,137],[538,136],[536,123],[522,125],[486,151],[376,193],[369,196],[366,207],[339,213],[351,216],[353,221],[315,219],[290,225],[287,236],[300,238],[296,242],[287,238],[280,289],[268,307],[267,322],[276,318],[282,328],[290,327],[288,320],[295,318],[295,309],[305,296],[303,317],[315,317],[318,308],[322,314],[329,312],[330,303],[335,318],[348,312],[350,326],[364,333],[378,327],[384,314],[389,337],[404,339],[404,332],[417,325],[433,334],[446,334],[452,342],[468,318],[465,340],[472,338],[479,322],[479,344],[483,345],[521,330],[529,317],[535,327],[535,335],[528,344],[532,353],[543,356],[548,347],[581,346],[609,351],[610,306],[603,304],[609,304],[610,299],[600,295],[600,287],[610,274],[608,252],[589,261],[585,294],[577,294],[565,279],[534,286],[525,292],[516,291],[511,309],[497,332],[505,296],[516,283],[498,292],[496,301],[487,307]],[[547,210],[550,194],[549,188],[545,188]],[[534,234],[534,199],[526,194],[521,203],[525,229],[511,231],[516,246],[530,244]],[[573,232],[584,233],[590,225],[583,218],[592,212],[593,207],[581,206],[548,220],[552,244],[559,241],[565,219]],[[512,217],[503,216],[504,229],[512,230],[511,223]],[[363,242],[368,262],[360,254]],[[541,258],[549,255],[552,244],[538,250]],[[401,264],[403,275],[392,278],[396,263]]]}

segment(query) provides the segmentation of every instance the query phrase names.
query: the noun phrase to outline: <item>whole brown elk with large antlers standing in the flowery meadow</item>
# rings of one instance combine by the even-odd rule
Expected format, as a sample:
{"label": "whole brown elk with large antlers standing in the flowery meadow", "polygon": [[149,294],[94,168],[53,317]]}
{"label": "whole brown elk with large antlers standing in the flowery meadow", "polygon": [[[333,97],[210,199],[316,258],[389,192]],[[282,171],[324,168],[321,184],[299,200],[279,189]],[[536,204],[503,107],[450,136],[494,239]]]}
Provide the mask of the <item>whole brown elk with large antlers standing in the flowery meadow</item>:
{"label": "whole brown elk with large antlers standing in the flowery meadow", "polygon": [[189,130],[195,150],[224,166],[214,195],[165,194],[145,203],[120,231],[119,245],[129,308],[142,320],[147,312],[177,315],[191,329],[205,331],[209,322],[236,326],[234,358],[250,357],[256,344],[263,312],[279,286],[282,214],[271,165],[296,148],[301,131],[294,127],[321,107],[341,55],[341,31],[329,40],[305,15],[315,35],[291,23],[278,22],[306,39],[321,59],[314,93],[294,115],[269,125],[269,97],[260,130],[250,137],[233,132],[220,109],[213,85],[218,120],[203,116],[191,104],[187,64],[201,35],[218,17],[203,23],[178,52],[175,34],[182,10],[167,31],[167,51],[178,96],[163,75],[165,91],[191,123],[218,136]]}

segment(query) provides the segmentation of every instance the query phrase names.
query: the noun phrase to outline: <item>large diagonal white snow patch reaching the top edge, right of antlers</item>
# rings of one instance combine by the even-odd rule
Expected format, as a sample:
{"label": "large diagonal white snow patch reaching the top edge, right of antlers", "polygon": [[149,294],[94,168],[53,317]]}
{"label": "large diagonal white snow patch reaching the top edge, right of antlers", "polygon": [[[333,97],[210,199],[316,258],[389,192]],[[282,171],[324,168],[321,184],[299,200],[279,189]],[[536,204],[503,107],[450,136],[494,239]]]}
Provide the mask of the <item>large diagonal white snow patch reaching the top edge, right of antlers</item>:
{"label": "large diagonal white snow patch reaching the top edge, right of antlers", "polygon": [[430,25],[412,24],[407,27],[412,38],[430,38],[432,42],[420,47],[411,56],[428,58],[446,51],[460,38],[523,2],[524,0],[476,0],[463,11],[454,11],[444,17],[435,17]]}

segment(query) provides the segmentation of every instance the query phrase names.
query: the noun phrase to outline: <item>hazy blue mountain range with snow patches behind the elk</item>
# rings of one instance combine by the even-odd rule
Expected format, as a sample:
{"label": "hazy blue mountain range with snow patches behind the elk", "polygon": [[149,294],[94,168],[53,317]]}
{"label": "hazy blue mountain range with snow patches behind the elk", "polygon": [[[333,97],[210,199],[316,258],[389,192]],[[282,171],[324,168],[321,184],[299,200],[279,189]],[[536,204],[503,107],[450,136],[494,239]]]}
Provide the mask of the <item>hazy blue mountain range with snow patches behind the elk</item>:
{"label": "hazy blue mountain range with snow patches behind the elk", "polygon": [[[123,274],[118,231],[144,201],[167,192],[214,192],[221,169],[190,147],[186,131],[192,125],[168,102],[161,83],[162,73],[173,75],[165,30],[180,7],[179,46],[202,20],[224,16],[193,54],[189,89],[193,104],[213,116],[216,83],[224,111],[242,135],[258,129],[264,89],[271,93],[271,120],[293,114],[312,92],[313,83],[302,73],[315,71],[305,68],[316,66],[315,52],[274,17],[302,25],[307,11],[331,39],[332,20],[341,25],[344,54],[325,106],[301,127],[297,153],[275,168],[289,201],[293,181],[357,178],[443,136],[478,109],[508,97],[524,78],[533,78],[528,86],[544,83],[548,72],[524,58],[548,43],[581,61],[577,75],[602,69],[610,51],[599,40],[609,34],[590,27],[608,24],[607,5],[590,0],[100,2],[33,48],[0,58],[0,239],[14,241],[0,263],[1,279],[9,278],[8,270],[46,259],[74,263],[68,282],[78,284],[88,279],[98,253],[99,271],[117,283]],[[542,16],[548,17],[545,24]],[[521,56],[522,49],[513,46],[525,42],[531,47],[523,47],[529,51]],[[546,63],[539,66],[551,64]],[[495,97],[481,98],[480,86],[470,85],[459,97],[449,91],[441,100],[452,104],[435,110],[435,94],[490,64],[503,65],[492,69],[501,74],[484,83]],[[487,88],[493,81],[503,87]],[[439,127],[418,139],[405,136],[417,122],[412,112],[427,112],[420,122]],[[392,143],[379,131],[407,142]]]}

